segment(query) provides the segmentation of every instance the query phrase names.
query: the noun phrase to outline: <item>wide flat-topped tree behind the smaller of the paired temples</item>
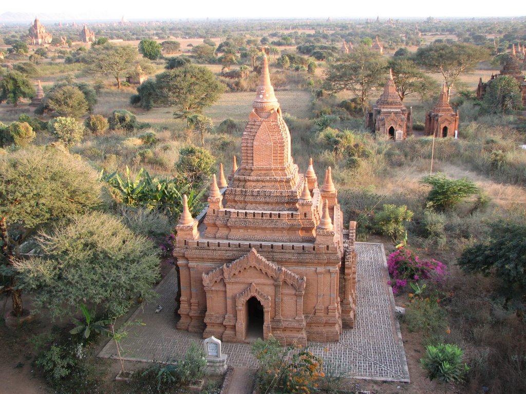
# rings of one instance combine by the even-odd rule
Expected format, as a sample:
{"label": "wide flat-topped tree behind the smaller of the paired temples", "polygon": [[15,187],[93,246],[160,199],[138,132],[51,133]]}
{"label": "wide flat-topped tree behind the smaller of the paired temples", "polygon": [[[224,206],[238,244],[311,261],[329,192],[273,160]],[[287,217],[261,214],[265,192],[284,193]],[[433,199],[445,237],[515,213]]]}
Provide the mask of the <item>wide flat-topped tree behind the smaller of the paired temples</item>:
{"label": "wide flat-topped tree behind the smaller of the paired temples", "polygon": [[472,70],[480,61],[489,58],[487,49],[470,44],[431,44],[417,50],[416,61],[429,72],[438,72],[451,88],[461,74]]}

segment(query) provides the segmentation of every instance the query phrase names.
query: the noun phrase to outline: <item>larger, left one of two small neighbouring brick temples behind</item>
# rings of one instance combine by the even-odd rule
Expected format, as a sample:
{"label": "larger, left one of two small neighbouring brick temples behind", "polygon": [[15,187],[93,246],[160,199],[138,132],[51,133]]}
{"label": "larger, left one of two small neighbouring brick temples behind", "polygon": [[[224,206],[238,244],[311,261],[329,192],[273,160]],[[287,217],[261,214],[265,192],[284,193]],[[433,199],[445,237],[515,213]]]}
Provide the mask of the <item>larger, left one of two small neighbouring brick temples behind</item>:
{"label": "larger, left one of two small neighbouring brick temples behind", "polygon": [[366,115],[366,127],[397,141],[410,136],[413,128],[412,111],[403,104],[396,91],[391,70],[383,93]]}

